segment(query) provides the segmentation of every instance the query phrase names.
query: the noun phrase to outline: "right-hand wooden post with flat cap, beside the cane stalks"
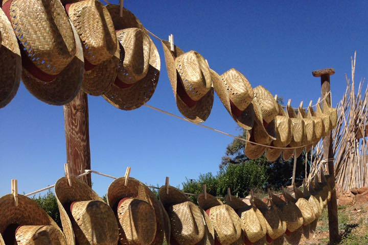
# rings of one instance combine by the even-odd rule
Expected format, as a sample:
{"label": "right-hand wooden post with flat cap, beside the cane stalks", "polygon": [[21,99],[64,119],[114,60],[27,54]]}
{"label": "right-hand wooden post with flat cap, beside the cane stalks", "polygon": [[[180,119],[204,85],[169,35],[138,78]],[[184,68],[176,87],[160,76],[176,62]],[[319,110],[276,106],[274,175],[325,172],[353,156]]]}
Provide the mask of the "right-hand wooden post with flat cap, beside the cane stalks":
{"label": "right-hand wooden post with flat cap, beside the cane stalks", "polygon": [[[325,98],[328,105],[331,105],[331,97],[325,95],[331,92],[330,76],[335,74],[335,69],[324,69],[316,70],[312,72],[314,77],[320,77],[321,79],[321,90],[322,97]],[[332,148],[332,132],[325,136],[323,140],[324,147],[324,159],[328,161],[328,174],[332,178],[333,183],[331,192],[331,201],[328,202],[328,216],[329,216],[329,233],[330,233],[330,244],[335,244],[340,240],[338,232],[338,218],[337,218],[337,200],[336,200],[336,184],[335,184],[335,174],[334,174],[334,152]]]}

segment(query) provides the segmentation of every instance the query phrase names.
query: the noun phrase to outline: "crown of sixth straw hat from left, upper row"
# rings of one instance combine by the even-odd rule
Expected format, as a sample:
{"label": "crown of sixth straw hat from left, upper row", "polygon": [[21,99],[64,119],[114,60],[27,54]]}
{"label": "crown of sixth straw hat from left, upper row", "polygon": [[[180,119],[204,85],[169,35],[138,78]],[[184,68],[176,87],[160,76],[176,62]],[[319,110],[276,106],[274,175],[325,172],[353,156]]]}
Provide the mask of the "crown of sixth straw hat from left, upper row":
{"label": "crown of sixth straw hat from left, upper row", "polygon": [[247,78],[238,70],[232,68],[221,75],[226,86],[229,99],[241,111],[244,111],[252,102],[253,89]]}

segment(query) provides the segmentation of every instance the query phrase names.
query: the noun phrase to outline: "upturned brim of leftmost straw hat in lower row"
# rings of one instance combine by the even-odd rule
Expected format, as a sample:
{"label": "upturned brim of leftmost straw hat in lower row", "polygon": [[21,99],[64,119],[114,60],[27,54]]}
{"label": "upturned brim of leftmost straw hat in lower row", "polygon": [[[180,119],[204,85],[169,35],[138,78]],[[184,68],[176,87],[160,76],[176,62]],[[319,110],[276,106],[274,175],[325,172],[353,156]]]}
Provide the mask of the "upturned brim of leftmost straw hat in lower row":
{"label": "upturned brim of leftmost straw hat in lower row", "polygon": [[18,206],[15,206],[12,194],[0,198],[0,244],[9,225],[53,226],[61,232],[54,220],[32,199],[18,194]]}

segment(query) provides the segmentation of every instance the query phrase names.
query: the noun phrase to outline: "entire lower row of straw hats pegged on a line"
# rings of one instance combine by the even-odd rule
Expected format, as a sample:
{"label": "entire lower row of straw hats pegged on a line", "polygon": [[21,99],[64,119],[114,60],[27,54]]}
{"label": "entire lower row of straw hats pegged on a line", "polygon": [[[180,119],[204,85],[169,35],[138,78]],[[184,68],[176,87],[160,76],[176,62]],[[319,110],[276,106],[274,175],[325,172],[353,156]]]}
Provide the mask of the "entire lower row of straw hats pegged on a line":
{"label": "entire lower row of straw hats pegged on a line", "polygon": [[[157,195],[142,182],[125,176],[114,180],[107,203],[83,181],[63,177],[55,184],[62,230],[38,204],[25,195],[0,198],[0,245],[141,244],[231,245],[298,244],[314,232],[322,210],[331,199],[330,178],[319,172],[303,191],[269,192],[250,202],[228,190],[223,203],[204,192],[198,205],[170,186]],[[15,185],[17,186],[17,185]],[[17,187],[15,187],[17,188]]]}

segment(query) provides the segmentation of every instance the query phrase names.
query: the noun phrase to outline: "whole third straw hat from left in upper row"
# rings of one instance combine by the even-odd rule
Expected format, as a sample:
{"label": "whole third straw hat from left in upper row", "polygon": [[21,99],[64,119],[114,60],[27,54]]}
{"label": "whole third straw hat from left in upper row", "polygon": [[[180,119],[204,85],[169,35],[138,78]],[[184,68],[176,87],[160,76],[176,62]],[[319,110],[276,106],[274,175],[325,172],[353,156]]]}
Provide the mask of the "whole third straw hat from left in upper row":
{"label": "whole third straw hat from left in upper row", "polygon": [[119,45],[111,16],[98,0],[61,0],[83,45],[85,74],[84,92],[102,95],[115,81],[119,57]]}

